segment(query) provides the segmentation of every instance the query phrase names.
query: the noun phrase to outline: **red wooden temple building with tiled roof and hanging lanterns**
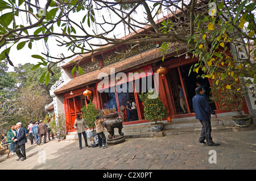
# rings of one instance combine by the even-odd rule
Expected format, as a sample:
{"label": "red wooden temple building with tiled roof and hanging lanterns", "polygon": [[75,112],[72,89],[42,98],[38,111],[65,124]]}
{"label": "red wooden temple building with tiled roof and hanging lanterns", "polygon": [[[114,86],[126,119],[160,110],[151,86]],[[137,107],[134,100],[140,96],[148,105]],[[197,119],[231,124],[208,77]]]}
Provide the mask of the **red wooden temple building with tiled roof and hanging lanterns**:
{"label": "red wooden temple building with tiled roof and hanging lanterns", "polygon": [[[149,30],[143,29],[139,32],[147,33]],[[135,33],[131,33],[122,39],[134,35]],[[89,103],[89,99],[99,109],[115,108],[119,112],[119,107],[124,106],[123,125],[145,122],[139,94],[147,92],[150,88],[159,95],[166,107],[168,121],[195,116],[192,98],[198,82],[205,88],[205,96],[210,107],[217,113],[223,112],[218,103],[210,99],[212,79],[198,77],[203,74],[200,70],[198,73],[191,71],[188,75],[189,69],[198,60],[187,51],[187,45],[170,44],[162,61],[160,44],[158,42],[137,46],[117,45],[93,54],[77,56],[72,61],[79,62],[84,74],[80,74],[78,69],[71,74],[73,67],[77,65],[74,62],[59,65],[62,75],[52,86],[50,94],[53,97],[55,113],[65,113],[67,133],[75,131],[73,125],[76,115],[81,113],[81,108]],[[160,74],[157,74],[158,72]],[[183,90],[185,110],[180,106],[180,89]],[[83,94],[86,90],[92,92],[88,98]],[[136,120],[127,120],[127,101],[136,104]],[[246,105],[243,110],[248,113]]]}

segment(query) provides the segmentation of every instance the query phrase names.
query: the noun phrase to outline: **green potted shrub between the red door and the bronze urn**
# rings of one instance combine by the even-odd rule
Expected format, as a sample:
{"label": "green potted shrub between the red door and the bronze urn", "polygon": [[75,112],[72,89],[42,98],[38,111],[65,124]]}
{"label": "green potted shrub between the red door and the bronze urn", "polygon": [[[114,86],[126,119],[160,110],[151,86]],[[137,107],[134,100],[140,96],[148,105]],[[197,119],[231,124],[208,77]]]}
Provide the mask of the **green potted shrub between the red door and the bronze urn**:
{"label": "green potted shrub between the red door and the bronze urn", "polygon": [[88,125],[90,129],[92,129],[93,137],[95,137],[96,136],[96,130],[94,131],[95,116],[97,115],[100,116],[100,113],[98,113],[98,108],[95,106],[92,100],[90,100],[90,103],[87,104],[87,106],[84,106],[83,108],[81,108],[81,111],[82,111],[82,117],[84,117],[86,125]]}

